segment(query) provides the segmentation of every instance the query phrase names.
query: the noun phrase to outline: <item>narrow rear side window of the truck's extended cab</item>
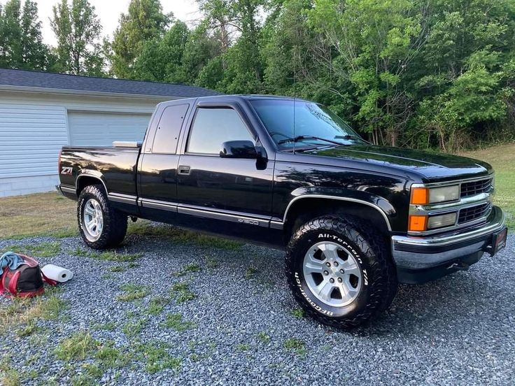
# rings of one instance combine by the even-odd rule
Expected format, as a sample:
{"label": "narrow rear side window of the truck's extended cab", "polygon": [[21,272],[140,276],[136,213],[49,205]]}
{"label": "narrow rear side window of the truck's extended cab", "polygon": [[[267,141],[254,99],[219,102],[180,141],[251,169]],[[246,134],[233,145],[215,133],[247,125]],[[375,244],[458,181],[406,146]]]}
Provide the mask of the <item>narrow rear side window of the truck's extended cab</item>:
{"label": "narrow rear side window of the truck's extended cab", "polygon": [[153,153],[176,153],[179,134],[189,107],[189,104],[182,104],[164,109],[155,131]]}

